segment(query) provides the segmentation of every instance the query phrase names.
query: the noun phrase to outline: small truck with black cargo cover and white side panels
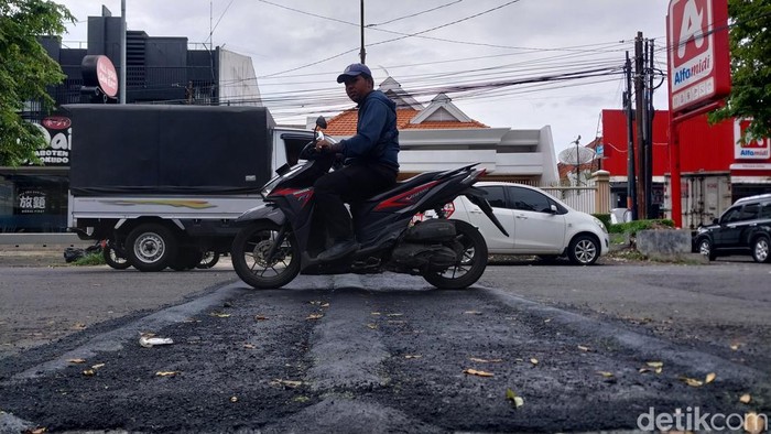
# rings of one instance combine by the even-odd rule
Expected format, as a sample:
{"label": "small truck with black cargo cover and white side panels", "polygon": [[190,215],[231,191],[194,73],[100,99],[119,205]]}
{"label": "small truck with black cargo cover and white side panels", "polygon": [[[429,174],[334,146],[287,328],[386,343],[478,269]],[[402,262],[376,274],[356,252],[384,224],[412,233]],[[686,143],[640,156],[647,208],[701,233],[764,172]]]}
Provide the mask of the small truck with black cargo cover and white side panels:
{"label": "small truck with black cargo cover and white side panels", "polygon": [[109,240],[141,271],[194,268],[229,251],[234,220],[294,164],[313,132],[260,107],[67,105],[68,227]]}

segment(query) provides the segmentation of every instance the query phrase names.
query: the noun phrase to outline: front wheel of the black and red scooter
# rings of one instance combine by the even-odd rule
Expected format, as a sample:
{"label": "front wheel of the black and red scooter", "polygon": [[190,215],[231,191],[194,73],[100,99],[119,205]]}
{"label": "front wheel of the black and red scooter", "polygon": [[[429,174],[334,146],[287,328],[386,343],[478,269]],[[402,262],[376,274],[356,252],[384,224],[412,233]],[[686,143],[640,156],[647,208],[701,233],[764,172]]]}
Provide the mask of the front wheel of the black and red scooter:
{"label": "front wheel of the black and red scooter", "polygon": [[257,221],[241,229],[230,251],[236,274],[258,290],[281,287],[300,273],[300,248],[291,230]]}

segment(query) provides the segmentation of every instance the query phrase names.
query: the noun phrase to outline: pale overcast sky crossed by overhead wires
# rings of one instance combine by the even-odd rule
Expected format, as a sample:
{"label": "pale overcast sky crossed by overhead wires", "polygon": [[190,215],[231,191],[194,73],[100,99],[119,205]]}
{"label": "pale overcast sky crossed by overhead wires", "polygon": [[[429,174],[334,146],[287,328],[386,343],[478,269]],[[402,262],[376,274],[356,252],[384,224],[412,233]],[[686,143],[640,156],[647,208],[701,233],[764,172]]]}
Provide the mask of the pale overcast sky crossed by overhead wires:
{"label": "pale overcast sky crossed by overhead wires", "polygon": [[[120,0],[57,0],[78,20],[65,44],[86,41],[87,18]],[[638,31],[665,70],[669,0],[365,0],[366,63],[428,102],[446,93],[490,127],[551,126],[558,153],[598,134],[602,109],[621,107],[620,68]],[[360,0],[127,0],[127,26],[184,36],[252,58],[279,122],[352,107],[335,77],[359,61]],[[564,80],[543,77],[584,76]],[[541,82],[539,82],[541,80]],[[666,86],[658,89],[666,109]]]}

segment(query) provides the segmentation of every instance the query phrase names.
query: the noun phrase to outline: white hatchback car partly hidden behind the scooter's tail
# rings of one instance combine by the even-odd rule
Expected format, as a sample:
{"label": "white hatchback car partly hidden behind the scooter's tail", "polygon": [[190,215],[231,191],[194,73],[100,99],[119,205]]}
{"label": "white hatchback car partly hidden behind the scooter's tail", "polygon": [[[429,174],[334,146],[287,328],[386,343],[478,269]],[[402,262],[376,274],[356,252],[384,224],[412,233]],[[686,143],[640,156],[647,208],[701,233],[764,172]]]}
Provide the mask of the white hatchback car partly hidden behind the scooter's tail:
{"label": "white hatchback car partly hidden behind the scooter's tail", "polygon": [[[577,211],[544,191],[523,184],[479,182],[504,236],[466,196],[453,202],[449,218],[479,228],[489,253],[534,254],[544,260],[567,257],[578,265],[590,265],[608,252],[608,229],[597,217]],[[447,209],[450,210],[450,209]]]}

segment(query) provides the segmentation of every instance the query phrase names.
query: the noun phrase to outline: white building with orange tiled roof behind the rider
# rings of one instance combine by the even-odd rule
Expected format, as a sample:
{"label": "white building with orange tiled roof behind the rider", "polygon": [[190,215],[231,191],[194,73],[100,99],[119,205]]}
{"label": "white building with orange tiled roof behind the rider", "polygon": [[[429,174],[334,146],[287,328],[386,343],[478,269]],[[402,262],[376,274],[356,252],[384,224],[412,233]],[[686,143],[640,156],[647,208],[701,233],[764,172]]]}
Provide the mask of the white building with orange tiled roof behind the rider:
{"label": "white building with orange tiled roof behind the rider", "polygon": [[[466,116],[444,94],[424,106],[392,77],[378,88],[397,102],[400,178],[479,163],[487,169],[486,181],[558,183],[551,127],[490,128]],[[346,110],[328,121],[326,133],[351,137],[357,120],[356,109]]]}

